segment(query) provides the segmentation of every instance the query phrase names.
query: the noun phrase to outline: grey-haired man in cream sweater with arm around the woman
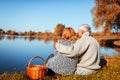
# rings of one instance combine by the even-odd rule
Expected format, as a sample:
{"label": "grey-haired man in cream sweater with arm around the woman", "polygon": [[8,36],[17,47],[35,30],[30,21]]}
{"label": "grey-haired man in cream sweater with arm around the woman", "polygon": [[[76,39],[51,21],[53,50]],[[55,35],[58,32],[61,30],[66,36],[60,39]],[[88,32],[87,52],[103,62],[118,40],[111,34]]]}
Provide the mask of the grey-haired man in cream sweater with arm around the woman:
{"label": "grey-haired man in cream sweater with arm around the woman", "polygon": [[100,52],[99,44],[95,38],[91,36],[91,28],[87,24],[79,27],[78,39],[74,44],[66,46],[60,41],[56,44],[56,49],[68,57],[78,57],[76,74],[88,75],[95,73],[100,69]]}

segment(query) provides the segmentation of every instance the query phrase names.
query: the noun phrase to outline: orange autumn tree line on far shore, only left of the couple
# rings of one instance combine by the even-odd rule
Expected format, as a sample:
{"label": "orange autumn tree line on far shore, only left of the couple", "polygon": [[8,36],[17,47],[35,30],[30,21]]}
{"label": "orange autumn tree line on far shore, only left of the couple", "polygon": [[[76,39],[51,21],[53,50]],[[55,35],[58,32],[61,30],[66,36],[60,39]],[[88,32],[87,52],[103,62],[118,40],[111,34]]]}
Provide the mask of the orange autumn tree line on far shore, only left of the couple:
{"label": "orange autumn tree line on far shore, only left of the couple", "polygon": [[7,30],[4,31],[3,29],[0,29],[0,35],[19,35],[19,36],[61,36],[63,29],[65,28],[65,25],[63,24],[57,24],[54,32],[35,32],[30,30],[29,32],[16,32],[13,30]]}

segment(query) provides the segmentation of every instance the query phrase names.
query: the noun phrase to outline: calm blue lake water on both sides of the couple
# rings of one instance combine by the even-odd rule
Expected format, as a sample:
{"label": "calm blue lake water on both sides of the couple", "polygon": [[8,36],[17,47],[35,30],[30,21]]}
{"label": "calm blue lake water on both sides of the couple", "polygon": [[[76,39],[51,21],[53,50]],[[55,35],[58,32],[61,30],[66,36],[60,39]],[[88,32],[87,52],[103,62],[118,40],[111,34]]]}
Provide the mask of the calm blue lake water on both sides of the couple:
{"label": "calm blue lake water on both sides of the couple", "polygon": [[[28,39],[26,37],[0,38],[0,73],[25,71],[29,60],[34,56],[41,56],[45,60],[54,52],[53,41]],[[118,54],[113,48],[101,47],[101,55]],[[34,59],[33,63],[42,64],[40,59]]]}

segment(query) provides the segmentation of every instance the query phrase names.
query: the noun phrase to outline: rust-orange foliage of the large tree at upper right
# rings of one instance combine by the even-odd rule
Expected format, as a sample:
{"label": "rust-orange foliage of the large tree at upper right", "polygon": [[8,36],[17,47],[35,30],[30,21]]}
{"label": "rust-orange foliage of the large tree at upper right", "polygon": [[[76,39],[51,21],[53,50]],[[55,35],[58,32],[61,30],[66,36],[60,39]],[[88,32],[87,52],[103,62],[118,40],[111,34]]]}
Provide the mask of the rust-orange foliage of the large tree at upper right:
{"label": "rust-orange foliage of the large tree at upper right", "polygon": [[120,0],[95,0],[91,12],[96,28],[103,27],[106,32],[120,29]]}

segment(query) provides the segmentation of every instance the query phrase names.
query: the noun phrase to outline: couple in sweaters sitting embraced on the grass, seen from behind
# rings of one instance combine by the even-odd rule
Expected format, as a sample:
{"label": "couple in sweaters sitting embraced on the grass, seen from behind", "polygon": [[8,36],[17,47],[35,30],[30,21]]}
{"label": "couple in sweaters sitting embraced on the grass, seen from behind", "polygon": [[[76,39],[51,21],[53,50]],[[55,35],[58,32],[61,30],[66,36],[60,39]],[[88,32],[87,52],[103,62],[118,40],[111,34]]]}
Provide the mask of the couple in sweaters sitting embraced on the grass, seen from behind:
{"label": "couple in sweaters sitting embraced on the grass, seen from behind", "polygon": [[91,36],[91,28],[83,24],[78,30],[78,39],[72,28],[65,28],[62,39],[55,44],[55,52],[47,60],[48,75],[96,73],[101,68],[99,44]]}

